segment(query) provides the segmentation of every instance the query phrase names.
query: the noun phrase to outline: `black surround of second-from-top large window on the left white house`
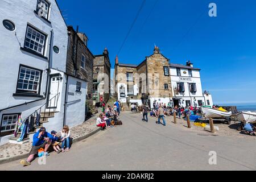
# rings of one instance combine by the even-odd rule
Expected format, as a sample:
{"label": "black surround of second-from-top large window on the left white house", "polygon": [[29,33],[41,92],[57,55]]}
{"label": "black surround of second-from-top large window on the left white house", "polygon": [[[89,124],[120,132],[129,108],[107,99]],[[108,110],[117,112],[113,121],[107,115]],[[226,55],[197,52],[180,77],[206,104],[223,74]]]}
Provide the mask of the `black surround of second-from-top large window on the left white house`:
{"label": "black surround of second-from-top large window on the left white house", "polygon": [[[32,29],[38,31],[40,34],[43,34],[43,35],[45,36],[46,39],[44,40],[44,50],[43,50],[43,54],[36,52],[34,49],[25,47],[28,27],[30,27],[30,28],[32,28]],[[24,38],[24,44],[23,44],[23,47],[20,47],[20,49],[21,49],[22,51],[26,51],[26,52],[28,52],[28,53],[32,53],[33,55],[36,55],[36,56],[39,56],[39,57],[42,57],[42,58],[48,60],[48,58],[47,58],[46,56],[44,56],[45,53],[46,53],[46,42],[47,42],[47,39],[48,39],[48,35],[47,35],[47,34],[45,34],[44,32],[40,31],[38,28],[36,28],[36,27],[34,27],[34,26],[30,25],[30,24],[27,24],[26,34],[25,34],[25,38]]]}

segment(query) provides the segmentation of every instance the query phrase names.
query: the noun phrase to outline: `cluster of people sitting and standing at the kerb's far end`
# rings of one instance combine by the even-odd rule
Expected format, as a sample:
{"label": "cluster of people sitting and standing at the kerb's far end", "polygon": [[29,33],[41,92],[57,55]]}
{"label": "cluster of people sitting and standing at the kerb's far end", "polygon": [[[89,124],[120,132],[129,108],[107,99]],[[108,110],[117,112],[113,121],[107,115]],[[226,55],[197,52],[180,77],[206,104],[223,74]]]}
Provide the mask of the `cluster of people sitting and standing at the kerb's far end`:
{"label": "cluster of people sitting and standing at the kerb's far end", "polygon": [[105,102],[102,104],[102,113],[96,119],[96,125],[101,127],[101,130],[105,130],[109,127],[114,127],[114,125],[122,125],[122,122],[118,120],[120,115],[121,103],[117,100],[114,106],[105,107]]}

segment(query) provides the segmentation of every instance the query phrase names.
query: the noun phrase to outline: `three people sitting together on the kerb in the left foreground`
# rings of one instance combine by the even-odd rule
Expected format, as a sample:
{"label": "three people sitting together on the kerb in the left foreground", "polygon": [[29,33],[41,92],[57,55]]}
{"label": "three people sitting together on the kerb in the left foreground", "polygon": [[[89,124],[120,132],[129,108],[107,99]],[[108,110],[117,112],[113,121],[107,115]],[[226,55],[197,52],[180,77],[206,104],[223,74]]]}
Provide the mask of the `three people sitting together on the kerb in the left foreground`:
{"label": "three people sitting together on the kerb in the left foreground", "polygon": [[35,156],[48,156],[49,148],[52,147],[57,154],[60,152],[68,152],[70,146],[70,134],[68,126],[64,126],[60,135],[57,135],[56,131],[48,133],[45,127],[41,127],[37,133],[33,136],[32,148],[27,160],[21,160],[20,163],[23,166],[29,166]]}

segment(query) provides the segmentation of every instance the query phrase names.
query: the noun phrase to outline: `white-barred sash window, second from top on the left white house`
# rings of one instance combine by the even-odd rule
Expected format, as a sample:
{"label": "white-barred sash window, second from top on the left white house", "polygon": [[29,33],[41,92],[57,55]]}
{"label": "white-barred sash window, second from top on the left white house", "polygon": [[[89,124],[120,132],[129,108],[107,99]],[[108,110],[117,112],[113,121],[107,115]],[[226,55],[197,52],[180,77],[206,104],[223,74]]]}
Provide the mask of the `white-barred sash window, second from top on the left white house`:
{"label": "white-barred sash window, second from top on the left white house", "polygon": [[35,30],[34,28],[27,26],[27,35],[25,39],[24,47],[32,49],[33,51],[44,54],[44,45],[46,42],[46,35]]}

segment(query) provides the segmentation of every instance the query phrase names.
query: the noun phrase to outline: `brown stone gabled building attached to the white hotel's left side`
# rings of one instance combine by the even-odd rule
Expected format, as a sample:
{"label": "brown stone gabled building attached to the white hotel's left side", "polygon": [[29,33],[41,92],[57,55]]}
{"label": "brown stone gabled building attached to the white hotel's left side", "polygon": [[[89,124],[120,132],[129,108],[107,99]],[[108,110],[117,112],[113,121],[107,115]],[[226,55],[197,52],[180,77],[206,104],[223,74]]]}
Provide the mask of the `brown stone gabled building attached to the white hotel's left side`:
{"label": "brown stone gabled building attached to the white hotel's left side", "polygon": [[154,101],[164,104],[171,101],[169,59],[156,46],[154,53],[139,65],[121,64],[116,57],[114,75],[115,92],[122,103],[142,100],[151,107]]}

